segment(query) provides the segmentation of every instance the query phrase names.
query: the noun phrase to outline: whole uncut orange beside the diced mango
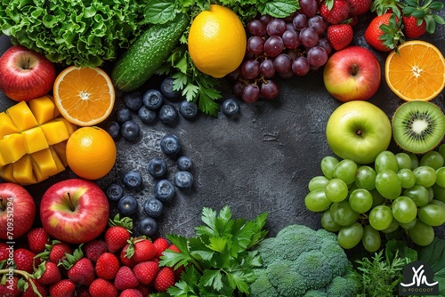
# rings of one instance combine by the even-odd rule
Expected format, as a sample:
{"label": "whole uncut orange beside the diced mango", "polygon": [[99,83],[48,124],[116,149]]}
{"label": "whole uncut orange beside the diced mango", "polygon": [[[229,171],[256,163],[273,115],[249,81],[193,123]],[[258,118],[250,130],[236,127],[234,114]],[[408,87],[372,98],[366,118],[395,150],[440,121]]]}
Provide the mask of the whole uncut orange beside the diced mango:
{"label": "whole uncut orange beside the diced mango", "polygon": [[115,165],[116,144],[109,133],[99,127],[81,127],[69,136],[66,156],[73,173],[97,180]]}

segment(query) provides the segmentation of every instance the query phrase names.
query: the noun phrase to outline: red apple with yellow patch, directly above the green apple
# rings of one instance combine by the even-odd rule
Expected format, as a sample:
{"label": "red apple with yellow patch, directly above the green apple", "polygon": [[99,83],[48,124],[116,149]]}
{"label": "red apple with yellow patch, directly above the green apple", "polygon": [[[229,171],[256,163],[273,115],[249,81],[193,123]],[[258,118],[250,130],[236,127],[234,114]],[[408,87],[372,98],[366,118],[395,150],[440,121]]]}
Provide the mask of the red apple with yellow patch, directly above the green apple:
{"label": "red apple with yellow patch, directly above the green apple", "polygon": [[368,100],[382,79],[376,55],[361,46],[348,46],[329,57],[323,70],[328,92],[342,102]]}

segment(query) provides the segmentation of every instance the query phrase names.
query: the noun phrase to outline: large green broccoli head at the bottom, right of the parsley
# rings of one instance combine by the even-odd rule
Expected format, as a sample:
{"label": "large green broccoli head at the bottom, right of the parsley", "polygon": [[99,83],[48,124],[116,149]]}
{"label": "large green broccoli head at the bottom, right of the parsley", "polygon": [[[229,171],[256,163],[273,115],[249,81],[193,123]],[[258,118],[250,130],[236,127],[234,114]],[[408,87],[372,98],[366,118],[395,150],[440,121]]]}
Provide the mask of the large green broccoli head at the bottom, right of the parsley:
{"label": "large green broccoli head at the bottom, right of the parsley", "polygon": [[336,235],[325,229],[289,225],[256,246],[263,266],[252,296],[352,296],[357,283]]}

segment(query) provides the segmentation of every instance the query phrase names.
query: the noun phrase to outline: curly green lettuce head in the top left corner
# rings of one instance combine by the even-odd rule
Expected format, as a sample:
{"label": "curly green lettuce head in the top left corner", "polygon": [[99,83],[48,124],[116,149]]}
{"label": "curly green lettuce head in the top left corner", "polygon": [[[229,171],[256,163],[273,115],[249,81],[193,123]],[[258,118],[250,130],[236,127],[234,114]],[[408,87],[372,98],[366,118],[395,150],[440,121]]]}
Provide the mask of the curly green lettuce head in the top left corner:
{"label": "curly green lettuce head in the top left corner", "polygon": [[100,66],[127,48],[143,26],[138,0],[1,0],[0,28],[53,62]]}

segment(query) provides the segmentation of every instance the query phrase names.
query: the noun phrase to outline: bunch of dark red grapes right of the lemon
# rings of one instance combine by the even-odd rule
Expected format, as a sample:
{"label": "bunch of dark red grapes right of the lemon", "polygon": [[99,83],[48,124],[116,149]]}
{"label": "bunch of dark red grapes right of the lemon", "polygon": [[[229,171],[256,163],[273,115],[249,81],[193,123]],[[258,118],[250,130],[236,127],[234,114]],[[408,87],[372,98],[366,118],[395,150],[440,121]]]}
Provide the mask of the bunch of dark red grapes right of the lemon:
{"label": "bunch of dark red grapes right of the lemon", "polygon": [[300,9],[287,18],[260,15],[247,23],[246,55],[231,74],[237,97],[248,103],[274,99],[279,87],[273,77],[304,76],[327,62],[332,47],[320,4],[317,0],[299,3]]}

